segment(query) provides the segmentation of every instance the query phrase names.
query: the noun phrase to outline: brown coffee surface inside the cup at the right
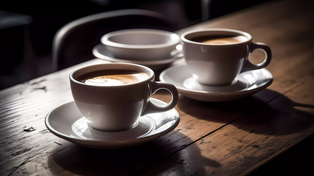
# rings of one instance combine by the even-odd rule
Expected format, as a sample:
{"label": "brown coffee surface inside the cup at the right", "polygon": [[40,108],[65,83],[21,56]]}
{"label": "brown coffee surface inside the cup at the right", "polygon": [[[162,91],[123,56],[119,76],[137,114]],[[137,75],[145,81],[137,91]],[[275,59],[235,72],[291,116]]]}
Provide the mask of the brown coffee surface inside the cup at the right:
{"label": "brown coffee surface inside the cup at the right", "polygon": [[212,35],[192,38],[191,41],[205,44],[236,44],[247,41],[245,36]]}

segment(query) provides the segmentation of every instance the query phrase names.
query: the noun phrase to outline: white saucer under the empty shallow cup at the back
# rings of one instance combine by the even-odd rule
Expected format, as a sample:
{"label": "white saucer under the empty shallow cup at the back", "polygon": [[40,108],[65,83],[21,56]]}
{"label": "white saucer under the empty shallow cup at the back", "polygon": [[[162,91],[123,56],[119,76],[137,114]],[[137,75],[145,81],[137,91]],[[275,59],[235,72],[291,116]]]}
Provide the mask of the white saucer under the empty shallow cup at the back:
{"label": "white saucer under the empty shallow cup at the back", "polygon": [[126,59],[118,59],[114,58],[113,55],[106,49],[106,46],[103,44],[97,44],[93,50],[92,53],[95,57],[99,59],[103,59],[105,61],[110,62],[122,62],[122,63],[132,63],[132,64],[139,64],[143,66],[148,66],[151,69],[160,69],[165,66],[168,66],[172,62],[183,59],[183,53],[178,53],[174,55],[173,57],[166,58],[166,59],[158,59],[158,60],[126,60]]}

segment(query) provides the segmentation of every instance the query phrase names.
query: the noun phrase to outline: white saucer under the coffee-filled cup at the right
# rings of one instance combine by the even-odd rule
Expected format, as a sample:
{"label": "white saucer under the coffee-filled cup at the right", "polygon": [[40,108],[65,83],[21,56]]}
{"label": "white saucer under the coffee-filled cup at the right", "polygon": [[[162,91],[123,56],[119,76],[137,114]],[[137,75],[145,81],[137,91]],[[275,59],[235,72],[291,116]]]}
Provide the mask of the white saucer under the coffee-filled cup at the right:
{"label": "white saucer under the coffee-filled cup at the right", "polygon": [[272,84],[272,73],[266,68],[246,71],[237,76],[237,82],[230,86],[207,86],[199,84],[192,77],[188,66],[172,66],[160,74],[160,80],[172,83],[183,95],[207,102],[221,102],[239,99],[267,88]]}

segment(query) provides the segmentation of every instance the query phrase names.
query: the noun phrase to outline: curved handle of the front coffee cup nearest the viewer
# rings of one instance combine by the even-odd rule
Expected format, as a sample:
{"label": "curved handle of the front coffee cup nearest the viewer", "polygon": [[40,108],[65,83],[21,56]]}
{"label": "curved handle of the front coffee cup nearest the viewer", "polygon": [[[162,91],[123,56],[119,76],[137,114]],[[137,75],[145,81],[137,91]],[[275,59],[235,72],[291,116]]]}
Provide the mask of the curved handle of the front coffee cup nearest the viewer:
{"label": "curved handle of the front coffee cup nearest the viewer", "polygon": [[155,105],[151,103],[150,101],[148,101],[145,110],[142,111],[141,116],[148,113],[163,112],[163,111],[171,110],[176,106],[179,100],[179,94],[178,94],[177,88],[173,86],[172,84],[169,84],[166,82],[153,81],[153,83],[151,84],[151,92],[152,92],[151,94],[156,93],[156,91],[159,89],[168,90],[172,95],[171,101],[165,106]]}

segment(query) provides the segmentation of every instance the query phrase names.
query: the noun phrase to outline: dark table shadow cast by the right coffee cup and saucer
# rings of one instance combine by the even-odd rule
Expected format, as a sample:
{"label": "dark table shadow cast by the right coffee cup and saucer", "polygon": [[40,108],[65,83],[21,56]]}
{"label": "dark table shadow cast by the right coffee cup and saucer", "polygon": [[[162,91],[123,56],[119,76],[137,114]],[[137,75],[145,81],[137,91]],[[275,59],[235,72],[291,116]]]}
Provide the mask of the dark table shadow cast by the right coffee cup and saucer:
{"label": "dark table shadow cast by the right coffee cup and saucer", "polygon": [[260,134],[290,134],[308,129],[314,123],[313,113],[297,109],[309,108],[313,111],[314,105],[293,102],[285,95],[269,89],[240,100],[218,103],[181,96],[178,107],[196,118],[224,124],[241,117],[231,125]]}

